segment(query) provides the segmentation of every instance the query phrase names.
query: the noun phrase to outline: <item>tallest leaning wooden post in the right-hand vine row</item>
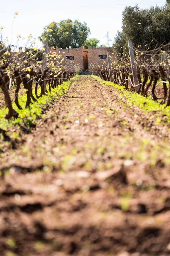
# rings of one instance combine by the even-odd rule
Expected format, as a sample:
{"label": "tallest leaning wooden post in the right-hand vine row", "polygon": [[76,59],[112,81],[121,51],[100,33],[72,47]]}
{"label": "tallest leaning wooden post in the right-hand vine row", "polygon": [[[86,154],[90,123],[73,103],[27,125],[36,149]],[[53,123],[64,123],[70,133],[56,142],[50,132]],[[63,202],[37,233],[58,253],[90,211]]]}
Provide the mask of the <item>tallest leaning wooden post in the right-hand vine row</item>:
{"label": "tallest leaning wooden post in the right-hand vine row", "polygon": [[[135,54],[133,50],[133,43],[132,41],[128,41],[128,47],[129,47],[129,55],[130,55],[130,63],[132,67],[132,75],[133,75],[133,84],[137,85],[138,83],[138,77],[137,77],[137,68],[135,64]],[[135,91],[137,91],[139,86],[134,87]]]}

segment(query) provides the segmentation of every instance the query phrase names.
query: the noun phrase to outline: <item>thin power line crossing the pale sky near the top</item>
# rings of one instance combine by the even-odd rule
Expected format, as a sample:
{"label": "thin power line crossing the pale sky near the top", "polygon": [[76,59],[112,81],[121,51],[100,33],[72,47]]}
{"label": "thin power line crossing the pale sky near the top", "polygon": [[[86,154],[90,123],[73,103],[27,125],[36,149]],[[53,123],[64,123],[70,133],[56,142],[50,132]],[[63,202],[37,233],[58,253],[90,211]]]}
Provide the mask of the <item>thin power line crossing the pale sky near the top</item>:
{"label": "thin power line crossing the pale sky near the top", "polygon": [[[165,4],[164,2],[147,2],[147,3],[138,3],[138,5],[142,4],[158,4],[162,3]],[[57,6],[57,7],[51,7],[51,8],[45,8],[45,9],[33,9],[31,8],[30,10],[28,9],[17,9],[18,12],[31,12],[31,11],[49,11],[49,10],[54,10],[54,9],[81,9],[81,8],[94,8],[94,7],[115,7],[115,6],[128,6],[128,5],[136,5],[136,3],[122,3],[122,4],[109,4],[109,5],[94,5],[94,6]],[[9,13],[9,12],[15,12],[16,10],[1,10],[0,13]]]}

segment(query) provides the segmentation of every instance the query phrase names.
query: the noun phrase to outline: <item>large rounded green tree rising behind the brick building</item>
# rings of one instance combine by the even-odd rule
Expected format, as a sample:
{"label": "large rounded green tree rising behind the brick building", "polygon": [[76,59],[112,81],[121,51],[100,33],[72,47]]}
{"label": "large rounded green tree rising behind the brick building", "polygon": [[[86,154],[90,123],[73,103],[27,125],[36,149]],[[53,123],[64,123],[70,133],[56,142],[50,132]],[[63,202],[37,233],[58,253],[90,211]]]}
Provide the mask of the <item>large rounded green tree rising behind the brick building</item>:
{"label": "large rounded green tree rising behind the brick building", "polygon": [[90,28],[87,23],[81,23],[78,20],[61,20],[59,23],[52,22],[44,27],[39,39],[41,42],[48,39],[48,45],[51,47],[79,48],[88,38]]}

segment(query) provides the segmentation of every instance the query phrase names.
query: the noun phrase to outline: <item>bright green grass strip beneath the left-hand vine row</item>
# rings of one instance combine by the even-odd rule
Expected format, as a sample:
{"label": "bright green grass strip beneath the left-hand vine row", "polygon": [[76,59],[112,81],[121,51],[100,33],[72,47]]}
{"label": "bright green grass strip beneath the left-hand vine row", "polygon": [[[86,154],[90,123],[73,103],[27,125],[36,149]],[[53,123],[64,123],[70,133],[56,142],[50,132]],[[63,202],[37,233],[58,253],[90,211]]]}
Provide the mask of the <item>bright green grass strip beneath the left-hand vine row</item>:
{"label": "bright green grass strip beneath the left-hand vine row", "polygon": [[[31,104],[28,108],[25,108],[27,96],[24,94],[19,99],[19,104],[23,108],[19,110],[15,103],[12,104],[13,108],[19,113],[18,118],[11,118],[9,120],[5,119],[6,114],[8,113],[7,108],[0,109],[0,128],[7,131],[6,134],[13,140],[20,138],[20,133],[23,132],[23,128],[26,128],[31,132],[31,128],[35,127],[38,119],[44,118],[45,113],[43,110],[48,109],[52,102],[55,102],[59,96],[62,96],[67,92],[68,87],[78,78],[78,75],[69,81],[65,81],[58,87],[51,89],[51,92],[48,92],[47,95],[43,95],[37,102]],[[40,92],[39,92],[40,93]],[[12,129],[11,129],[12,128]],[[10,144],[10,142],[6,142]],[[0,137],[0,148],[3,145],[3,136]]]}

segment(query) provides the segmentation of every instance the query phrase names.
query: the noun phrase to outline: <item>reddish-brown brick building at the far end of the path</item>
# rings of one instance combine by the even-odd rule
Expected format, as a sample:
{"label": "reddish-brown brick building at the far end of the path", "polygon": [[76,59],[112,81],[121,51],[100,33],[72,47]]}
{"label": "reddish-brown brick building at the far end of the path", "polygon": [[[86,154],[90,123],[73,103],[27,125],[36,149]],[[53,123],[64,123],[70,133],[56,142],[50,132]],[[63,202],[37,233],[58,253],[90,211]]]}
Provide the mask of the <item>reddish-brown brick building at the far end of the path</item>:
{"label": "reddish-brown brick building at the far end of the path", "polygon": [[107,53],[112,54],[112,47],[91,47],[85,49],[84,46],[79,48],[66,48],[60,49],[56,47],[56,50],[51,49],[51,52],[56,52],[62,55],[65,59],[70,59],[77,64],[81,65],[82,70],[88,69],[90,64],[98,63],[99,58],[101,61],[107,61]]}

